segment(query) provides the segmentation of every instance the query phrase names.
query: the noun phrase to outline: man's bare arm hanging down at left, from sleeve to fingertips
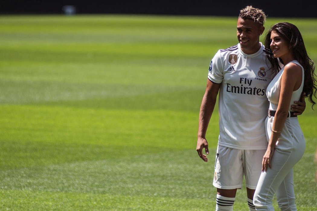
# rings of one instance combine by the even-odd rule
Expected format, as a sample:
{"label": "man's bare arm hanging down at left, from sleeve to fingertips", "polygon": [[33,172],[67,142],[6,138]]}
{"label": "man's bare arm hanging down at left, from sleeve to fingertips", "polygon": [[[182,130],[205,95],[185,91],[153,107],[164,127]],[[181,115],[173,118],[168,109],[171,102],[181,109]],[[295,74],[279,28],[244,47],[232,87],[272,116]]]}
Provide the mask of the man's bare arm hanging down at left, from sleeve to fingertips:
{"label": "man's bare arm hanging down at left, from sleeve to fingertips", "polygon": [[217,95],[221,84],[216,84],[207,80],[206,91],[200,106],[199,124],[198,124],[198,138],[197,138],[197,152],[199,157],[207,162],[208,158],[203,154],[205,148],[206,154],[209,154],[208,142],[206,140],[206,132],[211,118],[211,114],[215,108]]}

